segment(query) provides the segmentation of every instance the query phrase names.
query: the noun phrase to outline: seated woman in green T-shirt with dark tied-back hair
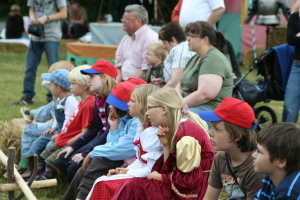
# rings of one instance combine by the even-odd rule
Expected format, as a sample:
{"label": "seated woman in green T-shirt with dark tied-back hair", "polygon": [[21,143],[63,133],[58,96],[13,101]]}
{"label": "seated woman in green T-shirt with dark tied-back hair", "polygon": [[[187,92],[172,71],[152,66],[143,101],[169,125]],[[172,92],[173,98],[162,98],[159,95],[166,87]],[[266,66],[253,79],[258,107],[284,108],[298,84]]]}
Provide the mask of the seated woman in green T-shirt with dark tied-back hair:
{"label": "seated woman in green T-shirt with dark tied-back hair", "polygon": [[196,55],[188,61],[176,89],[190,111],[213,110],[232,96],[232,69],[223,54],[226,40],[204,21],[189,23],[186,32],[188,48]]}

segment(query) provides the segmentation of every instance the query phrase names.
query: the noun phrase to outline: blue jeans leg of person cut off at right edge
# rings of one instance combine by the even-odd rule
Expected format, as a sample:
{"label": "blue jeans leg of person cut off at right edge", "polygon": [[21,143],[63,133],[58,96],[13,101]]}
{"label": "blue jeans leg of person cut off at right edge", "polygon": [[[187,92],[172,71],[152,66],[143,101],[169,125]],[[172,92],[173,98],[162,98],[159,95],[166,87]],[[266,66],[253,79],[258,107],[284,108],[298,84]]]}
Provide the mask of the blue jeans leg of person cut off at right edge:
{"label": "blue jeans leg of person cut off at right edge", "polygon": [[300,62],[293,62],[283,103],[283,122],[297,123],[300,109]]}

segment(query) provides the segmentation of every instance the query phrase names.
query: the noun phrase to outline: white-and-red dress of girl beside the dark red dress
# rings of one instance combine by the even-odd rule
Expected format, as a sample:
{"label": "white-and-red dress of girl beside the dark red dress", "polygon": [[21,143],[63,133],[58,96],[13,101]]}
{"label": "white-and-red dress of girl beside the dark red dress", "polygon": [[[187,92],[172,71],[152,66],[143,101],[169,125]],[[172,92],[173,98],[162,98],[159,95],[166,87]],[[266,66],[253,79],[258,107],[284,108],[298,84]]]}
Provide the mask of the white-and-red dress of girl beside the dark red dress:
{"label": "white-and-red dress of girl beside the dark red dress", "polygon": [[99,177],[86,199],[109,200],[125,180],[146,177],[156,160],[163,154],[162,144],[156,135],[157,131],[157,127],[148,127],[144,131],[139,127],[134,139],[137,159],[127,167],[129,169],[127,174]]}

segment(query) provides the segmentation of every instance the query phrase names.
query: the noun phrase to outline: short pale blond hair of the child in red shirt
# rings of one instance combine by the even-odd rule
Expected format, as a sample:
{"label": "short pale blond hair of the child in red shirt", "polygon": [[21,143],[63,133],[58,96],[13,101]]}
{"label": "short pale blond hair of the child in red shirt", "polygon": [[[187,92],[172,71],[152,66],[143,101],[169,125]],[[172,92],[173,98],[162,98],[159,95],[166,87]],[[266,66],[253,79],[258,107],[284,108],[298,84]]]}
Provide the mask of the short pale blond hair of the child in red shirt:
{"label": "short pale blond hair of the child in red shirt", "polygon": [[91,66],[89,66],[89,65],[81,65],[81,66],[74,68],[68,76],[69,80],[71,82],[77,83],[80,86],[90,88],[90,85],[88,82],[90,77],[87,75],[84,75],[80,72],[80,70],[82,70],[82,69],[89,69],[89,68],[91,68]]}

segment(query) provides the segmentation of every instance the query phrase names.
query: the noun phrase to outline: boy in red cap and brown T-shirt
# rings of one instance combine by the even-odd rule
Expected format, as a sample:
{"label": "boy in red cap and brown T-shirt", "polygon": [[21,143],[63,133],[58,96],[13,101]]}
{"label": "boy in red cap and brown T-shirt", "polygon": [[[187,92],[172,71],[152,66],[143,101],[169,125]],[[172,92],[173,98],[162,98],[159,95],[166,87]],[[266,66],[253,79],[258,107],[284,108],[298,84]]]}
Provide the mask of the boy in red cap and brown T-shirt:
{"label": "boy in red cap and brown T-shirt", "polygon": [[211,142],[218,153],[208,180],[204,200],[218,200],[222,187],[228,199],[254,199],[261,188],[262,175],[253,170],[256,149],[253,109],[239,99],[225,98],[214,111],[199,112],[211,121]]}

